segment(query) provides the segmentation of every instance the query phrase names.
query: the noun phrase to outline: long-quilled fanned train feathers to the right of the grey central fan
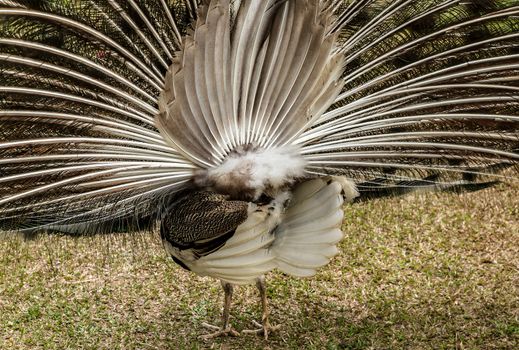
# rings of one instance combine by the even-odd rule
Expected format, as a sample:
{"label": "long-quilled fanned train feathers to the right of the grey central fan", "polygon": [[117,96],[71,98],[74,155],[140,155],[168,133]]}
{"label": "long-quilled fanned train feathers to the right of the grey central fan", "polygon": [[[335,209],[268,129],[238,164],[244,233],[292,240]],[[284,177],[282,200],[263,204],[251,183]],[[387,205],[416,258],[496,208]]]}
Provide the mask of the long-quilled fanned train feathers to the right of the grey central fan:
{"label": "long-quilled fanned train feathers to the right of the grey central fan", "polygon": [[517,174],[519,3],[348,3],[344,89],[296,141],[308,171],[363,178],[368,192]]}

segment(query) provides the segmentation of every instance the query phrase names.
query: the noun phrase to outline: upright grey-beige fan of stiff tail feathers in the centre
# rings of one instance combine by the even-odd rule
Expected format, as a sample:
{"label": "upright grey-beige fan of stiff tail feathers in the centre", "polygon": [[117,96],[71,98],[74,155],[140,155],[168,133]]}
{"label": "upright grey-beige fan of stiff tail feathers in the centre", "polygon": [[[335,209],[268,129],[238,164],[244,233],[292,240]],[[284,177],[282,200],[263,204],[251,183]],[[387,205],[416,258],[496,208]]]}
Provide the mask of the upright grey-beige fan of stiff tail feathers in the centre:
{"label": "upright grey-beige fan of stiff tail feathers in the centre", "polygon": [[202,167],[242,145],[290,144],[343,85],[331,16],[319,1],[243,2],[234,21],[228,8],[228,0],[202,6],[157,118],[164,137]]}

